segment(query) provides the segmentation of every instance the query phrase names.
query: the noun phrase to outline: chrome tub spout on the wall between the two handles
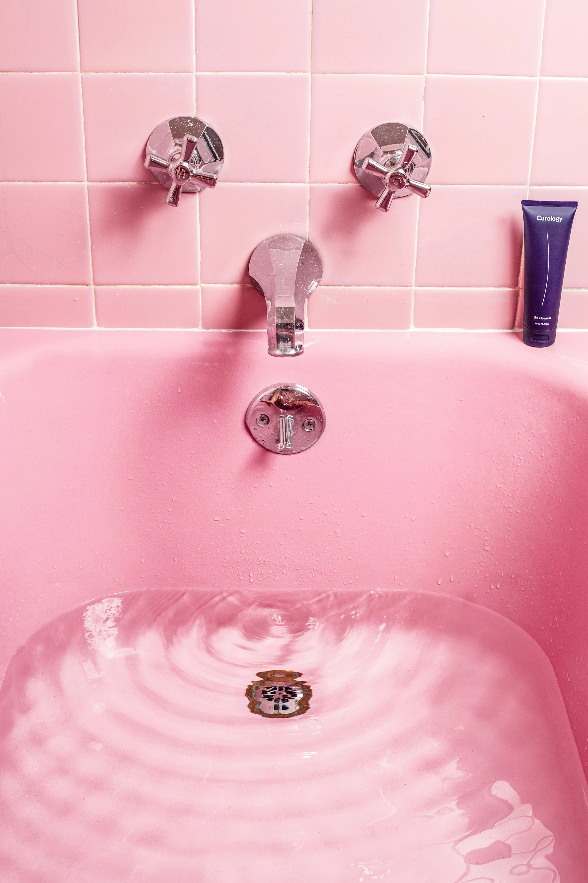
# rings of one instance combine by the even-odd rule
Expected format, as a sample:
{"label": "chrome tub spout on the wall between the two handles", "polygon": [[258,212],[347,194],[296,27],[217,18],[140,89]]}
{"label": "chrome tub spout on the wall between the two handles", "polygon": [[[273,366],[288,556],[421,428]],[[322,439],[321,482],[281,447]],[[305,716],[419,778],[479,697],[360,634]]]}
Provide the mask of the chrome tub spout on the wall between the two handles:
{"label": "chrome tub spout on the wall between the two handles", "polygon": [[304,306],[321,281],[314,245],[292,233],[264,239],[249,260],[249,279],[267,303],[267,351],[299,356],[304,350]]}

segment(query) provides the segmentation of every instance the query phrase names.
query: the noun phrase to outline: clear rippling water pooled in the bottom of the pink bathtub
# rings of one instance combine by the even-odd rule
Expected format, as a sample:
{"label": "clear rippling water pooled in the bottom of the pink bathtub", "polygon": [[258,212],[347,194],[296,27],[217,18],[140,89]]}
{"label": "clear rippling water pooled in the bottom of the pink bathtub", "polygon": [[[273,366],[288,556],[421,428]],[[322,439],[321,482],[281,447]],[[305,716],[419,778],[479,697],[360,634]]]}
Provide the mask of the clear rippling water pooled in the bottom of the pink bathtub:
{"label": "clear rippling water pooled in the bottom of the pink bathtub", "polygon": [[[307,713],[249,713],[274,669],[304,673]],[[432,594],[100,600],[6,676],[3,883],[575,883],[549,672],[511,623]]]}

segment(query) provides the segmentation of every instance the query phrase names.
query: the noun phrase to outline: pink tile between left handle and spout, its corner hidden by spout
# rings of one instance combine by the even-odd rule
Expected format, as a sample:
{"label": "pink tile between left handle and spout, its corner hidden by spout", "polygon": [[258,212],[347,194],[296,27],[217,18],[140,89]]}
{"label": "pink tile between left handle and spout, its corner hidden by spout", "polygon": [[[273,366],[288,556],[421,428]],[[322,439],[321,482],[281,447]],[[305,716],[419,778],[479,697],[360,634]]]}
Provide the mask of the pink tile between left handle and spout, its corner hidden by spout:
{"label": "pink tile between left handle and spout, its corner hidden by spout", "polygon": [[308,187],[219,184],[200,200],[202,281],[249,283],[253,249],[277,233],[306,237]]}

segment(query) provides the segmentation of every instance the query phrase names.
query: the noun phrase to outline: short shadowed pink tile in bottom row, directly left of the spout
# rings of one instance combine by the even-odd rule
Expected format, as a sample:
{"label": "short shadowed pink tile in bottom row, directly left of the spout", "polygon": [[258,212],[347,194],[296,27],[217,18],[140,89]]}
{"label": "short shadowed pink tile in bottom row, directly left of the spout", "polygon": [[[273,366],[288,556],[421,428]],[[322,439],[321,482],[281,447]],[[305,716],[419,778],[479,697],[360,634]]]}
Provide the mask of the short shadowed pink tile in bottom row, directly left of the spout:
{"label": "short shadowed pink tile in bottom row, directly left of the spout", "polygon": [[250,285],[203,285],[203,328],[265,328],[265,298]]}

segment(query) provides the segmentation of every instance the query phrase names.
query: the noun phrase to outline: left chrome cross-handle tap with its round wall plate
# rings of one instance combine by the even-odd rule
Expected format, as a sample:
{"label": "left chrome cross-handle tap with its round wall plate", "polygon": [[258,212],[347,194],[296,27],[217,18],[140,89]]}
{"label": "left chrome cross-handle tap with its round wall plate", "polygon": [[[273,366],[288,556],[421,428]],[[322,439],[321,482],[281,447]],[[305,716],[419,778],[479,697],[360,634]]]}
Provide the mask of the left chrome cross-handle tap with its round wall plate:
{"label": "left chrome cross-handle tap with its round wall plate", "polygon": [[168,206],[177,206],[182,193],[214,187],[225,155],[218,134],[196,117],[173,117],[149,136],[145,169],[167,187]]}

